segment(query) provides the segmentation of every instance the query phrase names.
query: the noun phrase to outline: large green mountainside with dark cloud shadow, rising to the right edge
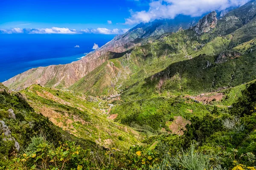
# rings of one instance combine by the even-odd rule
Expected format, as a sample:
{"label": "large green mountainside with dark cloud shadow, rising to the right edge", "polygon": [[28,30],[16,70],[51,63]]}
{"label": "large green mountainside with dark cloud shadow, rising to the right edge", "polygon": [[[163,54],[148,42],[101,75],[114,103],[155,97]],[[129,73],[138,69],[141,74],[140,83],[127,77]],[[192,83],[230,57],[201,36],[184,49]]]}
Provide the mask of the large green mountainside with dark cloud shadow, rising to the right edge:
{"label": "large green mountainside with dark cloud shadow, rising to the right edge", "polygon": [[[175,93],[177,91],[184,91],[183,88],[187,87],[189,87],[187,90],[190,89],[189,91],[194,91],[195,89],[192,89],[192,87],[197,87],[196,85],[199,85],[197,87],[198,92],[200,91],[200,88],[201,91],[207,92],[221,88],[221,86],[239,85],[238,83],[241,81],[236,82],[236,80],[232,80],[232,82],[228,83],[228,79],[230,79],[228,74],[233,74],[234,76],[239,73],[233,73],[230,68],[230,70],[225,68],[225,64],[218,62],[221,62],[219,61],[222,59],[221,55],[230,55],[227,57],[227,59],[232,57],[236,58],[233,60],[232,64],[236,65],[236,62],[240,62],[239,56],[244,53],[242,52],[242,54],[240,54],[240,52],[232,52],[234,51],[232,48],[243,42],[250,41],[255,37],[256,34],[254,31],[254,25],[256,22],[253,17],[250,17],[253,14],[256,14],[255,11],[251,11],[251,8],[255,6],[252,2],[249,2],[234,11],[230,11],[223,18],[221,18],[221,20],[217,21],[216,13],[212,12],[206,17],[211,18],[210,20],[203,19],[203,21],[199,22],[197,26],[192,29],[178,31],[177,33],[171,35],[166,34],[165,37],[160,37],[158,40],[148,42],[146,45],[131,48],[131,50],[127,51],[125,55],[120,54],[120,56],[123,55],[122,57],[116,59],[112,58],[96,68],[94,72],[88,74],[72,85],[70,89],[95,96],[108,96],[111,94],[116,95],[122,93],[122,91],[125,91],[123,96],[129,93],[143,95],[151,93],[152,91],[155,91],[155,89],[161,89],[163,84],[167,83],[165,80],[169,79],[170,77],[172,77],[172,79],[169,80],[169,83],[175,87],[170,88],[169,90],[172,89]],[[245,12],[245,9],[248,10],[248,17],[241,15],[242,12]],[[244,23],[244,20],[248,19],[250,19],[250,21]],[[213,21],[214,24],[212,24]],[[239,24],[237,25],[236,22]],[[201,25],[205,23],[207,24],[201,27]],[[233,32],[230,33],[230,31],[233,30],[234,25],[237,25],[237,27]],[[206,29],[207,31],[203,29]],[[198,33],[200,34],[195,34],[196,31],[199,31]],[[237,48],[240,47],[237,46]],[[249,55],[250,54],[244,54],[244,56]],[[194,57],[196,57],[196,59],[192,59]],[[250,67],[254,68],[254,61],[253,59],[249,58],[241,57],[241,60],[244,59],[244,61],[241,62],[247,62],[250,60]],[[226,61],[227,59],[224,60]],[[188,61],[182,62],[183,60]],[[231,64],[231,62],[226,64]],[[217,65],[223,65],[221,66],[221,69],[224,69],[224,73],[216,70],[218,68]],[[180,73],[177,73],[174,71],[174,69],[176,69],[178,72],[182,72],[184,67],[186,68],[185,71],[189,72],[189,75],[182,78]],[[237,69],[236,66],[233,69]],[[251,70],[251,68],[245,69]],[[212,72],[207,72],[208,70]],[[166,74],[162,74],[161,71],[166,72]],[[169,72],[172,73],[172,76],[170,77],[168,76]],[[194,73],[204,76],[201,77],[201,79],[195,77],[197,82],[191,82],[192,86],[190,86],[188,84],[189,82],[187,81],[189,81],[189,77],[195,76],[191,75]],[[220,80],[216,78],[219,76],[221,77],[221,75],[218,74],[227,75],[222,75],[224,77],[222,77]],[[254,78],[255,77],[253,77],[252,73],[243,81],[248,82]],[[144,79],[147,79],[147,83],[143,83]],[[153,79],[152,81],[154,81],[154,79],[158,79],[157,82],[159,84],[149,85],[149,79]],[[233,79],[235,78],[233,77]],[[187,85],[182,84],[180,81],[187,83]],[[225,81],[226,83],[223,83]],[[136,86],[138,87],[138,84],[143,87],[134,90]],[[204,85],[204,87],[201,87],[201,84]],[[132,86],[134,87],[129,88]],[[147,91],[144,91],[143,88],[147,88]]]}

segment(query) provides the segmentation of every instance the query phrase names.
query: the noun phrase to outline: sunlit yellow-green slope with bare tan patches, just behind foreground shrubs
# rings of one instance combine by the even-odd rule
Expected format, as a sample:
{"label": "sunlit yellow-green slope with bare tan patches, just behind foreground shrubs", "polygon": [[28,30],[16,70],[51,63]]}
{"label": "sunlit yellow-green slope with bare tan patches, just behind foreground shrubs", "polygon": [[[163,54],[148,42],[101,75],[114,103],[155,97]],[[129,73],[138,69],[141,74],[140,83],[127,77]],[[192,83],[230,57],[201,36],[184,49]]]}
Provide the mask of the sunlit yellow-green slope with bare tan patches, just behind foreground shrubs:
{"label": "sunlit yellow-green slope with bare tan patches, just behind foreground shrubs", "polygon": [[101,99],[39,85],[32,85],[21,94],[36,113],[43,114],[56,126],[81,139],[119,149],[138,142],[139,133],[108,118],[113,106]]}

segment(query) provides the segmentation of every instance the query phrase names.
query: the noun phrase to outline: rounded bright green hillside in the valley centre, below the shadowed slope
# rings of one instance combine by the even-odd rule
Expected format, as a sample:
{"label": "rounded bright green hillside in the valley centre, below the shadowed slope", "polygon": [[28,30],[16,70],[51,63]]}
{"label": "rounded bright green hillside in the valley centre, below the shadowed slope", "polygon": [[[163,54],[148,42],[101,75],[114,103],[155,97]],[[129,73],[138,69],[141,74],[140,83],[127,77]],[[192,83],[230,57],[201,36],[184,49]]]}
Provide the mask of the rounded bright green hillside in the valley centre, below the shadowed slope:
{"label": "rounded bright green hillside in the valley centre, below the shadowed slope", "polygon": [[[172,121],[174,116],[183,116],[186,119],[201,117],[209,113],[209,110],[213,109],[211,107],[185,98],[155,97],[116,105],[111,114],[118,114],[116,121],[122,124],[146,125],[152,128],[152,132],[158,132],[162,128],[168,130],[166,122]],[[188,110],[193,110],[193,113]]]}

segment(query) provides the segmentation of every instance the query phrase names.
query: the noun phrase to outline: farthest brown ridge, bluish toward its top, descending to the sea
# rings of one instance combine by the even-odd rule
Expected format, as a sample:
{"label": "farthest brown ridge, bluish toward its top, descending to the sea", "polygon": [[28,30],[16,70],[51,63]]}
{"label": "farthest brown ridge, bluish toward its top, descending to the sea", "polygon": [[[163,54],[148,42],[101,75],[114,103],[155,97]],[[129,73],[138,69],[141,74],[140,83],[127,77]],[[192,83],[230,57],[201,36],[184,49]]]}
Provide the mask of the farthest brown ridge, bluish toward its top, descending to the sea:
{"label": "farthest brown ridge, bluish toward its top, descending to the sea", "polygon": [[[179,20],[182,20],[182,22],[179,22]],[[113,40],[77,62],[66,65],[50,65],[48,67],[33,68],[3,82],[3,84],[10,89],[23,89],[32,84],[68,88],[105,62],[102,55],[105,55],[108,51],[127,51],[135,45],[141,45],[151,41],[152,36],[156,36],[155,38],[157,39],[157,35],[177,31],[180,27],[189,28],[195,24],[196,20],[198,18],[179,16],[175,20],[155,20],[151,23],[139,24],[127,33],[117,35]],[[141,40],[141,38],[148,40]]]}

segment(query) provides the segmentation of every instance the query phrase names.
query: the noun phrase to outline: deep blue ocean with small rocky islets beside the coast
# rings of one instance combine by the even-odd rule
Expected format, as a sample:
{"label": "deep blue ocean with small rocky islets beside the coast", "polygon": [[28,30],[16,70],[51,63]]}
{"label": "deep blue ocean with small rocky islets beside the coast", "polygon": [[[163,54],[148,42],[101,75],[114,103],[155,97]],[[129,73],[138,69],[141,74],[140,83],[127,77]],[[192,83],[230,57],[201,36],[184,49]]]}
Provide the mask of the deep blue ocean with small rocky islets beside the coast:
{"label": "deep blue ocean with small rocky islets beside the coast", "polygon": [[[0,34],[0,82],[40,66],[77,61],[115,35]],[[79,48],[75,48],[79,45]]]}

